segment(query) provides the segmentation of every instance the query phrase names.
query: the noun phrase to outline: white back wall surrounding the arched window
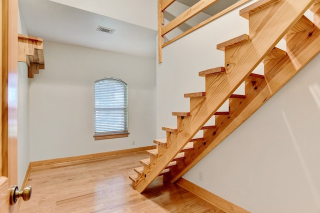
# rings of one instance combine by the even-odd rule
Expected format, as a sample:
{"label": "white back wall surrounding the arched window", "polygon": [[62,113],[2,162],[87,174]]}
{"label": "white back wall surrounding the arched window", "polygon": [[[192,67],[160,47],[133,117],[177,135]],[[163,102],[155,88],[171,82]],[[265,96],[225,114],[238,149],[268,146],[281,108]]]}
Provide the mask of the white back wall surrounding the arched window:
{"label": "white back wall surrounding the arched window", "polygon": [[[30,160],[152,145],[155,59],[44,42],[45,69],[30,80]],[[128,84],[129,136],[94,141],[93,83]],[[132,145],[132,141],[135,145]]]}

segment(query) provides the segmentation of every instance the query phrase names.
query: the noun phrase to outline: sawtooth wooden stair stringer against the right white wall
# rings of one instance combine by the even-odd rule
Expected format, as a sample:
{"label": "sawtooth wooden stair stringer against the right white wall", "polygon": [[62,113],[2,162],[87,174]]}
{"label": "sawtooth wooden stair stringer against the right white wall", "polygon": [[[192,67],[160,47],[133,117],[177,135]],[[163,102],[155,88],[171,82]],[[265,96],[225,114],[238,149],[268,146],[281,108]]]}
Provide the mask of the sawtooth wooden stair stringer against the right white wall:
{"label": "sawtooth wooden stair stringer against the right white wall", "polygon": [[[171,182],[174,182],[188,171],[194,164],[202,159],[216,145],[218,145],[228,134],[237,128],[255,110],[265,103],[283,84],[292,78],[306,63],[320,52],[320,30],[314,27],[312,35],[309,32],[299,32],[287,43],[288,55],[283,58],[268,60],[264,65],[265,80],[254,89],[254,86],[246,85],[246,98],[232,99],[229,101],[230,117],[216,116],[217,130],[207,140],[206,149],[197,150],[185,155],[184,165],[177,165],[170,172]],[[292,61],[291,61],[291,59]],[[249,90],[250,88],[250,90]],[[190,159],[192,155],[192,159]]]}

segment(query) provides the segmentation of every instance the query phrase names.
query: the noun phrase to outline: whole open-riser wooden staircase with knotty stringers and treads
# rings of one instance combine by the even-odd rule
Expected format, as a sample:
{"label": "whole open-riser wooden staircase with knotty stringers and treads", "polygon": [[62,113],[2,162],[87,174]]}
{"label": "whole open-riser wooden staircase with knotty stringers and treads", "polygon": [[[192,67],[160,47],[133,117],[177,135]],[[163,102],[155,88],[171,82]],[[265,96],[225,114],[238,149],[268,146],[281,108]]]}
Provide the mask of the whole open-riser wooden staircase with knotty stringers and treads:
{"label": "whole open-riser wooden staircase with knotty stringers and treads", "polygon": [[[310,7],[314,24],[303,13]],[[205,92],[184,94],[189,112],[172,112],[177,125],[162,127],[166,138],[155,139],[157,149],[140,160],[143,166],[130,175],[132,187],[142,192],[158,175],[176,181],[237,128],[320,51],[320,0],[259,0],[240,10],[249,22],[243,34],[217,49],[225,66],[199,72]],[[286,52],[275,46],[285,38]],[[264,63],[264,75],[251,73]],[[245,82],[245,95],[232,92]],[[229,111],[217,109],[229,99]],[[215,125],[204,124],[215,115]],[[195,134],[203,129],[203,136]]]}

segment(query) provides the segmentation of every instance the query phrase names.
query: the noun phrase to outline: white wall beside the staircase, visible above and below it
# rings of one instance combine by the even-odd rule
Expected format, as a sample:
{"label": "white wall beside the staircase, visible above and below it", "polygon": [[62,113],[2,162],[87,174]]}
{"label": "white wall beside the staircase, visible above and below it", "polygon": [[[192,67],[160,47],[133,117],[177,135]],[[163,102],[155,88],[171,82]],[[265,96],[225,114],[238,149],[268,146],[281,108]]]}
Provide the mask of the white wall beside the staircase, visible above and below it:
{"label": "white wall beside the staircase, visible above and below it", "polygon": [[[157,137],[204,91],[198,71],[223,66],[216,44],[248,33],[231,12],[163,48],[157,64]],[[217,32],[223,32],[217,33]],[[183,177],[251,212],[320,212],[320,55]],[[199,180],[202,172],[203,180]]]}

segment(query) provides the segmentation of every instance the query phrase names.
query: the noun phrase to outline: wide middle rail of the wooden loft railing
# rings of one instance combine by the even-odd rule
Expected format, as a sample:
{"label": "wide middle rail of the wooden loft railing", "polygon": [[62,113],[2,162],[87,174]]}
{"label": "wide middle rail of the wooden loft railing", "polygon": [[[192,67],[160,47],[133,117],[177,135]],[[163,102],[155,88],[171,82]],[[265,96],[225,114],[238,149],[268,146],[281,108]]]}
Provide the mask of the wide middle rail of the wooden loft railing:
{"label": "wide middle rail of the wooden loft railing", "polygon": [[175,27],[179,26],[180,24],[184,23],[197,13],[203,11],[204,9],[208,8],[209,6],[216,3],[218,0],[199,0],[196,2],[193,6],[191,6],[189,9],[182,12],[180,15],[175,17],[173,20],[171,20],[169,23],[167,23],[165,26],[161,27],[161,35],[165,35]]}

